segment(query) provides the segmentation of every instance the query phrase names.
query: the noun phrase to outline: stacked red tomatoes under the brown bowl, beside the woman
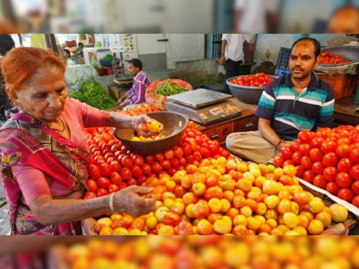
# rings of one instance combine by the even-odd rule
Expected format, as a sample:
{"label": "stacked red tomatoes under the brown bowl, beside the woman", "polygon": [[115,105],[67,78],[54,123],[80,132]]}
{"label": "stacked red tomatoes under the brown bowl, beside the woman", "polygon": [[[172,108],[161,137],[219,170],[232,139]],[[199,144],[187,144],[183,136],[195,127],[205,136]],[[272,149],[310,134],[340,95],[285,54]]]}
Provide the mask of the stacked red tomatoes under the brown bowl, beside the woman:
{"label": "stacked red tomatoes under the brown bowl, beside the woman", "polygon": [[[126,112],[140,112],[136,108]],[[228,158],[230,155],[229,151],[219,146],[218,141],[211,141],[207,135],[196,130],[194,122],[188,124],[178,146],[146,156],[127,151],[121,141],[115,139],[111,127],[88,128],[86,131],[93,157],[88,167],[89,192],[84,195],[85,199],[117,192],[130,185],[142,185],[148,178],[159,178],[163,173],[172,176],[190,164],[199,166],[202,159]]]}

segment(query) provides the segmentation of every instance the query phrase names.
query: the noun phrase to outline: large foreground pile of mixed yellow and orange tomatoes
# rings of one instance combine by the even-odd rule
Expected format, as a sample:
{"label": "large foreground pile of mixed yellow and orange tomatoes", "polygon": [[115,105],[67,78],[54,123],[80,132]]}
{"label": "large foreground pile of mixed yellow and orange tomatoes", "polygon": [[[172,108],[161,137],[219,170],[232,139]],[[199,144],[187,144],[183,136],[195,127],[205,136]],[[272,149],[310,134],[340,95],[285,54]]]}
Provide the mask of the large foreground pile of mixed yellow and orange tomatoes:
{"label": "large foreground pile of mixed yellow and orange tomatoes", "polygon": [[296,169],[204,159],[173,176],[144,183],[153,187],[155,212],[132,218],[112,214],[95,225],[100,235],[318,235],[348,211],[303,190]]}

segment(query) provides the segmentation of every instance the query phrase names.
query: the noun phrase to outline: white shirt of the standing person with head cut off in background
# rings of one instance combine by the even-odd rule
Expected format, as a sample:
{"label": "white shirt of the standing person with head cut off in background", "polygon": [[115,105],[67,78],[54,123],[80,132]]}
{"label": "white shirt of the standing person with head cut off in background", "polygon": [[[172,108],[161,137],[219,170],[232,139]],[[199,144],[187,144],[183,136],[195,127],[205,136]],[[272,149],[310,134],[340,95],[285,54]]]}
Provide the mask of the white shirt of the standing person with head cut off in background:
{"label": "white shirt of the standing person with head cut off in background", "polygon": [[243,60],[243,35],[242,34],[223,34],[222,40],[227,40],[225,47],[225,60],[228,59],[238,62]]}

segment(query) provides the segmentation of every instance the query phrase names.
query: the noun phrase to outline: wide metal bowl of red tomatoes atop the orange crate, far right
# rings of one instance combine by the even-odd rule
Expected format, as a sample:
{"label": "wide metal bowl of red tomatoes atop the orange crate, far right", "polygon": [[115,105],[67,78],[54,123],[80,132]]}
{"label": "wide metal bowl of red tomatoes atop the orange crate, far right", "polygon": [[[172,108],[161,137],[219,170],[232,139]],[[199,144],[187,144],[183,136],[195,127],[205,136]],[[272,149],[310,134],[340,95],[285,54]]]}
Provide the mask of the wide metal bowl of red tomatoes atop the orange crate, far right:
{"label": "wide metal bowl of red tomatoes atop the orange crate, far right", "polygon": [[359,63],[359,47],[354,46],[322,48],[318,57],[320,66],[343,66],[356,62]]}

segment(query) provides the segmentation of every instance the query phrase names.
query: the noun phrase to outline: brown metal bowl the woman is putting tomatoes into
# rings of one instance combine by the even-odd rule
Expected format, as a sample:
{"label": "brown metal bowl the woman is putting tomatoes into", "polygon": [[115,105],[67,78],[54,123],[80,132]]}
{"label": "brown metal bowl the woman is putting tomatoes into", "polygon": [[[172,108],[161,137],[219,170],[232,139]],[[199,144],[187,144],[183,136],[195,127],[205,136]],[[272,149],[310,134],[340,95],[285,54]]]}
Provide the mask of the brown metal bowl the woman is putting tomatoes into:
{"label": "brown metal bowl the woman is putting tomatoes into", "polygon": [[165,137],[152,141],[131,141],[131,138],[135,136],[133,129],[115,129],[113,135],[122,142],[127,150],[147,155],[169,150],[180,143],[189,122],[187,115],[169,111],[152,112],[146,115],[163,124]]}

